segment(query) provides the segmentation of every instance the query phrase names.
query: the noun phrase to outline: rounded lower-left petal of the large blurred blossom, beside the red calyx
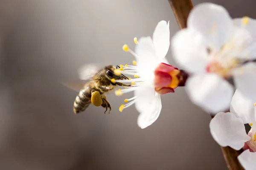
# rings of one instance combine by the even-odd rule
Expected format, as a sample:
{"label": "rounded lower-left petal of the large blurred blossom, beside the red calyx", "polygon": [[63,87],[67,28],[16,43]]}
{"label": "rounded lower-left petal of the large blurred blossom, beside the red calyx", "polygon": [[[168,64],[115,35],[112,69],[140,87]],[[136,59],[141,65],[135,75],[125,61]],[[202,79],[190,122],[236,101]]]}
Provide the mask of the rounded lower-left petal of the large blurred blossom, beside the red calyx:
{"label": "rounded lower-left petal of the large blurred blossom, beside the red calyx", "polygon": [[187,79],[185,89],[195,104],[212,113],[229,108],[233,87],[216,74],[196,74]]}

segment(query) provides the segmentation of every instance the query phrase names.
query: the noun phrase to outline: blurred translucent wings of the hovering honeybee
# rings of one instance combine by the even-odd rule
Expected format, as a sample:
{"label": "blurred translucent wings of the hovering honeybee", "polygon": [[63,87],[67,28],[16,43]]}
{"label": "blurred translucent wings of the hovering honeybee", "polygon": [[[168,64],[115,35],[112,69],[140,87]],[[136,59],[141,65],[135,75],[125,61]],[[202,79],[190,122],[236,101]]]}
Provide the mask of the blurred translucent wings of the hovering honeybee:
{"label": "blurred translucent wings of the hovering honeybee", "polygon": [[96,63],[82,65],[78,69],[79,80],[62,82],[62,85],[79,92],[84,87],[85,83],[89,82],[93,78],[94,74],[96,74],[103,67],[103,64]]}

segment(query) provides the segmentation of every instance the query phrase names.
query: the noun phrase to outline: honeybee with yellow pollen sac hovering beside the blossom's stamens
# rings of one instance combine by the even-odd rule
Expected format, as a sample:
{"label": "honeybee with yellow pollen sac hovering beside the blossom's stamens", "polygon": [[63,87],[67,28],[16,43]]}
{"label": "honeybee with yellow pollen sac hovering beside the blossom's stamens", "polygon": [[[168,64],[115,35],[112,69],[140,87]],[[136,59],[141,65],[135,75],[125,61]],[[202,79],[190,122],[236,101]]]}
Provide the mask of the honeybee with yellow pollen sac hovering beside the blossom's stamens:
{"label": "honeybee with yellow pollen sac hovering beside the blossom's stamens", "polygon": [[[111,105],[105,96],[106,93],[112,91],[117,85],[129,87],[121,82],[115,82],[116,79],[128,79],[120,74],[118,65],[107,65],[104,68],[97,69],[95,65],[84,65],[79,68],[79,83],[62,83],[73,90],[79,91],[76,96],[73,111],[75,114],[85,111],[91,103],[95,106],[102,106],[105,112],[111,112]],[[78,90],[80,89],[80,90]]]}

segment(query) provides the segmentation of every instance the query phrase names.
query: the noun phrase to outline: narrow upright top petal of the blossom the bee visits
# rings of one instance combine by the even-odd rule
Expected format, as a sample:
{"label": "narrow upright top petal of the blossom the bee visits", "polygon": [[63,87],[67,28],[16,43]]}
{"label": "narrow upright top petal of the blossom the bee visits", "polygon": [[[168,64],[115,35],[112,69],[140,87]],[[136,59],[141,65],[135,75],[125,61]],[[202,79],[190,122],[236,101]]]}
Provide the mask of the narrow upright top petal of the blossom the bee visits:
{"label": "narrow upright top petal of the blossom the bee visits", "polygon": [[153,33],[153,43],[157,57],[163,59],[166,56],[170,46],[170,28],[169,21],[160,21]]}

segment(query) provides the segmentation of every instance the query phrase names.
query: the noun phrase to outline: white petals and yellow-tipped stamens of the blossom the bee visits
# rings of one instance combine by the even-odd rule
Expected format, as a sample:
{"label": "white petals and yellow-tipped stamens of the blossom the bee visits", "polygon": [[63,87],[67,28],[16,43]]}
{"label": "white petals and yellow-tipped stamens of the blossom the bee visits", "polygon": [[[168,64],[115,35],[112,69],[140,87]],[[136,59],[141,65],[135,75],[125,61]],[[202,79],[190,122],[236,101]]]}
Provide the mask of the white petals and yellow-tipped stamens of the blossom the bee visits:
{"label": "white petals and yellow-tipped stamens of the blossom the bee visits", "polygon": [[[145,128],[157,120],[162,109],[160,94],[155,91],[154,80],[156,68],[162,62],[167,63],[165,56],[170,45],[169,22],[160,21],[154,30],[152,39],[151,37],[141,37],[139,41],[135,38],[134,42],[137,44],[135,52],[131,51],[128,45],[124,45],[123,50],[133,54],[136,62],[134,61],[134,65],[121,65],[120,70],[122,74],[133,75],[136,78],[116,80],[116,82],[131,82],[132,84],[132,87],[117,90],[116,95],[120,96],[134,91],[134,97],[125,99],[125,102],[131,102],[121,105],[119,111],[135,104],[136,109],[140,112],[137,121],[138,126]],[[169,70],[170,74],[177,73],[177,69],[171,65],[166,64],[165,69]],[[171,80],[166,79],[165,81],[170,83]],[[167,90],[168,92],[174,92],[174,89],[171,87],[167,89],[169,89]]]}

